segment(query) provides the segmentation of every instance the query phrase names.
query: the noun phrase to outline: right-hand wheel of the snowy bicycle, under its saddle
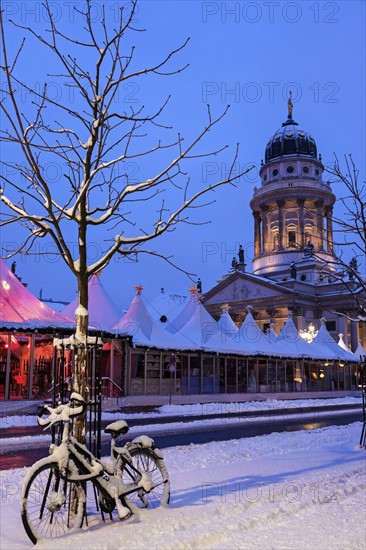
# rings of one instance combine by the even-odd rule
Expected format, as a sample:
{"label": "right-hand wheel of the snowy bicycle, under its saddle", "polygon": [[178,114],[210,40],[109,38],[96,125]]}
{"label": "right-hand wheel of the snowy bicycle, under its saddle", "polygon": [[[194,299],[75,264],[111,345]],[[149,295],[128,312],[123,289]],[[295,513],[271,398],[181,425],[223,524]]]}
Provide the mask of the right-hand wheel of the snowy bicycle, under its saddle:
{"label": "right-hand wheel of the snowy bicycle, under its saddle", "polygon": [[[157,508],[161,504],[168,504],[170,499],[170,483],[164,461],[153,450],[145,449],[140,445],[131,446],[128,452],[132,458],[130,462],[123,460],[122,483],[127,490],[134,486],[136,491],[127,495],[128,503],[138,508]],[[148,488],[148,489],[147,489]]]}

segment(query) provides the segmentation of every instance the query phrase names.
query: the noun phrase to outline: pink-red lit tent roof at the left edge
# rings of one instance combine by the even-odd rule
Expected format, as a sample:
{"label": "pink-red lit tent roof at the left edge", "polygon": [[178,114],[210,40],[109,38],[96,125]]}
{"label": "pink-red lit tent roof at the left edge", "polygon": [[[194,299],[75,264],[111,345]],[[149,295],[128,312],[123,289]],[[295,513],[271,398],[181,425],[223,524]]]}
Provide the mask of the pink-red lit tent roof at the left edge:
{"label": "pink-red lit tent roof at the left edge", "polygon": [[72,328],[75,322],[38,300],[0,258],[0,325],[31,330]]}

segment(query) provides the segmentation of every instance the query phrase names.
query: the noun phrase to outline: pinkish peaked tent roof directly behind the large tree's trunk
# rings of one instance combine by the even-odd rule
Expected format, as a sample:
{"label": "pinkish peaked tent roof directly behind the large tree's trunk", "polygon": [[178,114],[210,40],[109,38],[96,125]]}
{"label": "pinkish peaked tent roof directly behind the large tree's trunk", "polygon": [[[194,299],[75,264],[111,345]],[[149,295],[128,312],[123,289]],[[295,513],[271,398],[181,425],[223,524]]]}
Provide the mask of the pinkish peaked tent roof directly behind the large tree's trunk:
{"label": "pinkish peaked tent roof directly behind the large tree's trunk", "polygon": [[[104,289],[99,275],[93,275],[88,283],[89,291],[89,326],[94,329],[112,330],[114,323],[121,317],[122,308],[118,307]],[[75,310],[78,306],[76,297],[65,309],[62,314],[74,318]]]}

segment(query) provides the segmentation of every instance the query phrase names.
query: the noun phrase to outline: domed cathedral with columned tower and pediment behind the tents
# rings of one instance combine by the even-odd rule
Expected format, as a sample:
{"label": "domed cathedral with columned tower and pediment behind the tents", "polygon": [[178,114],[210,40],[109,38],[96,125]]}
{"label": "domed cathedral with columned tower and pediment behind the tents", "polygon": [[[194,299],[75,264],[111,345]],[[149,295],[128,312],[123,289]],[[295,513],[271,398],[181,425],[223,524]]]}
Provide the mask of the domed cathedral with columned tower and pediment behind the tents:
{"label": "domed cathedral with columned tower and pediment behind the tents", "polygon": [[[333,256],[333,205],[336,197],[323,181],[324,166],[314,138],[293,118],[291,95],[287,120],[269,139],[261,165],[261,186],[250,201],[254,218],[252,273],[246,272],[242,247],[238,261],[204,296],[218,318],[229,304],[240,325],[246,307],[254,308],[259,327],[278,334],[289,312],[297,328],[317,330],[321,319],[338,342],[343,334],[354,351],[366,344],[365,323],[357,320],[355,281],[340,281]],[[366,297],[365,297],[366,299]]]}

